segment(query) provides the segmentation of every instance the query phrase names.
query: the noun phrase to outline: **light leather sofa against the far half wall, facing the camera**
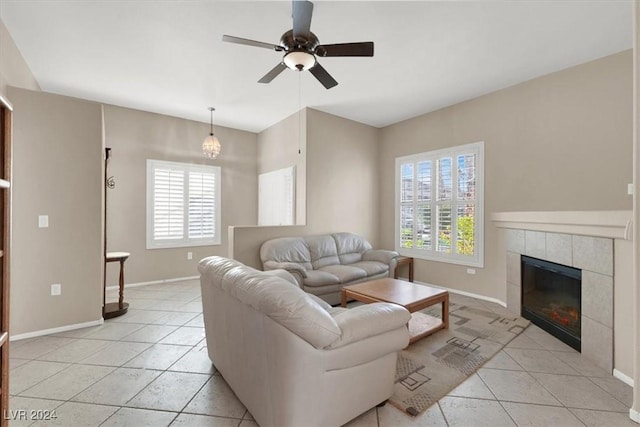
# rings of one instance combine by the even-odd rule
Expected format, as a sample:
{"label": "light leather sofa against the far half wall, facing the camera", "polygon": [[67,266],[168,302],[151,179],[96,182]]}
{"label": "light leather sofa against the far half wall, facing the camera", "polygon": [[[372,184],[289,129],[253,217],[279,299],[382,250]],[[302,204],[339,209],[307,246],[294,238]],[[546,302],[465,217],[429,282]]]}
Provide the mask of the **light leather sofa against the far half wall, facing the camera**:
{"label": "light leather sofa against the far half wall, facing the camera", "polygon": [[265,271],[287,270],[305,292],[332,305],[340,303],[345,285],[393,277],[397,258],[397,252],[372,249],[364,237],[353,233],[280,237],[260,247]]}

